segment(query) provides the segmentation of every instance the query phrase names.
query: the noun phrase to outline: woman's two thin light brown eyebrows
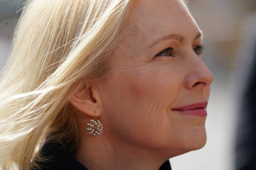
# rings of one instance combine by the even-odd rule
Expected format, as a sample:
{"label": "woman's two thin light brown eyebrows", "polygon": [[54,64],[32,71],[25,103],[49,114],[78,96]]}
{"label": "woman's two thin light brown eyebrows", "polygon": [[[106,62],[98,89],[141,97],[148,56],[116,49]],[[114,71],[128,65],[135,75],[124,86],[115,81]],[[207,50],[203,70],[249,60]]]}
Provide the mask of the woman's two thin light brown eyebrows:
{"label": "woman's two thin light brown eyebrows", "polygon": [[[198,38],[200,37],[203,37],[203,34],[202,32],[198,32],[194,38],[194,41],[197,40]],[[152,48],[154,46],[156,46],[157,44],[159,44],[160,42],[162,41],[166,41],[166,40],[178,40],[180,41],[181,43],[183,43],[186,39],[184,36],[180,35],[180,34],[168,34],[168,35],[164,35],[162,37],[160,37],[159,39],[157,39],[156,41],[154,41],[150,46],[149,48]]]}

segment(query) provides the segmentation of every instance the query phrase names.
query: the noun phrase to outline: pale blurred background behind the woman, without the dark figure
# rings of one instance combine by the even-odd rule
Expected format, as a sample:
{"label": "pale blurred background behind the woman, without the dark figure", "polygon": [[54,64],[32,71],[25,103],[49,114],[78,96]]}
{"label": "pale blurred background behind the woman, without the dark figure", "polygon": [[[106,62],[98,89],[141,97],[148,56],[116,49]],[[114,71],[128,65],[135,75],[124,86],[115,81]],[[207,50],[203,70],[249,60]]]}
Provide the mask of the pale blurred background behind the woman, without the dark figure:
{"label": "pale blurred background behind the woman, without the dark figure", "polygon": [[[0,0],[0,70],[24,1]],[[214,81],[207,108],[207,143],[200,150],[170,159],[172,169],[232,170],[244,74],[246,64],[252,62],[248,50],[252,34],[256,35],[256,0],[190,0],[188,6],[203,30],[202,60]]]}

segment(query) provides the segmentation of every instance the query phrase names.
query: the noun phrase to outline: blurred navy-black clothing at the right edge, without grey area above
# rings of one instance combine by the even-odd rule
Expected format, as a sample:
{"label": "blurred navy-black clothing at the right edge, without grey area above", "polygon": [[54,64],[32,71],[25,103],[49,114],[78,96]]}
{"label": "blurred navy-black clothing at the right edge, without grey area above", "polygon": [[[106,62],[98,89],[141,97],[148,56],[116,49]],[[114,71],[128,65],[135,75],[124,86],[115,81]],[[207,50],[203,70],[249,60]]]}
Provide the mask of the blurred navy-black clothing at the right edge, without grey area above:
{"label": "blurred navy-black clothing at the right edge, without grey area above", "polygon": [[[236,132],[236,170],[256,169],[256,40],[253,67],[245,80]],[[248,68],[248,67],[247,67]]]}

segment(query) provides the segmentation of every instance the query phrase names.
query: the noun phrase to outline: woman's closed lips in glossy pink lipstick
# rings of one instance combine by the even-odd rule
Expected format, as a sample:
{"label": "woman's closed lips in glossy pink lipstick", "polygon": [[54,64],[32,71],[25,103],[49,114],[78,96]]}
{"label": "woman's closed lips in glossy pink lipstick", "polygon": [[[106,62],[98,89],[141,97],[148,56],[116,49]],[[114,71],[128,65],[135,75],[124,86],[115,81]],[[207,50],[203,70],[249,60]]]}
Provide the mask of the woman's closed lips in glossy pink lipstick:
{"label": "woman's closed lips in glossy pink lipstick", "polygon": [[205,102],[200,102],[200,103],[194,103],[191,105],[179,107],[179,108],[174,108],[172,110],[178,111],[180,114],[183,115],[196,115],[196,116],[206,116],[207,111],[206,111],[206,106],[207,106],[207,101]]}

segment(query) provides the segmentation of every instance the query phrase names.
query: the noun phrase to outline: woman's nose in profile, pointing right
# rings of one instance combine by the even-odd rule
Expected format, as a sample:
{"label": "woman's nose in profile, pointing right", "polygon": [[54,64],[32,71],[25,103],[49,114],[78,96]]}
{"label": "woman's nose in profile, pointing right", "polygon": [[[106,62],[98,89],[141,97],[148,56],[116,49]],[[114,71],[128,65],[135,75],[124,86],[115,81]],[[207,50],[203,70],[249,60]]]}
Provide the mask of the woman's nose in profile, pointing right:
{"label": "woman's nose in profile, pointing right", "polygon": [[211,71],[197,55],[193,56],[193,61],[189,63],[188,68],[188,74],[185,78],[187,89],[203,89],[212,83]]}

